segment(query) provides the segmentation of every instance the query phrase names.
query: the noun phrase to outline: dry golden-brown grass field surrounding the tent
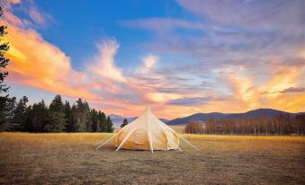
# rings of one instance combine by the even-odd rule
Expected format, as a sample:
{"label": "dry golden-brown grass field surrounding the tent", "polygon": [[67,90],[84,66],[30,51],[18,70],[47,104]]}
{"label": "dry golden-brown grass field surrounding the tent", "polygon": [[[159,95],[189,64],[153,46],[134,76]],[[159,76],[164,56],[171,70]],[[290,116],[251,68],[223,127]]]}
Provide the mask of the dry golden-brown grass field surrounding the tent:
{"label": "dry golden-brown grass field surrounding the tent", "polygon": [[197,150],[120,150],[107,134],[0,133],[0,184],[305,184],[305,137],[194,136]]}

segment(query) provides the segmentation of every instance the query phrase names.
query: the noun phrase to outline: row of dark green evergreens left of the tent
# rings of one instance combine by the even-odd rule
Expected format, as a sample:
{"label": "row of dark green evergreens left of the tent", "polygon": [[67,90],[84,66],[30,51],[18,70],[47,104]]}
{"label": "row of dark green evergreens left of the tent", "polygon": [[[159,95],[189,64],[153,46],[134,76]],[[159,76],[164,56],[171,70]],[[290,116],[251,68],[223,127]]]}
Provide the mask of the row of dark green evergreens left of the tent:
{"label": "row of dark green evergreens left of the tent", "polygon": [[72,106],[63,102],[58,94],[49,107],[42,100],[27,105],[28,98],[23,96],[7,98],[4,107],[5,121],[0,123],[0,131],[18,132],[112,132],[112,119],[100,110],[90,109],[89,104],[78,99]]}

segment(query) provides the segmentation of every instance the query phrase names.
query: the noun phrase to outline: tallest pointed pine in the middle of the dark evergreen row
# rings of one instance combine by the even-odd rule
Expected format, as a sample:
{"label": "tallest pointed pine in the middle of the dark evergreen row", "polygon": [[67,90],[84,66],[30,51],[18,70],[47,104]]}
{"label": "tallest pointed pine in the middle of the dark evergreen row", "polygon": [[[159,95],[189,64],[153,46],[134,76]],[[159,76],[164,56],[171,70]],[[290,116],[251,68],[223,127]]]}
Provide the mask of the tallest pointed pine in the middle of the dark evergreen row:
{"label": "tallest pointed pine in the middle of the dark evergreen row", "polygon": [[62,132],[66,128],[66,114],[61,96],[57,94],[49,104],[49,123],[44,127],[47,132]]}

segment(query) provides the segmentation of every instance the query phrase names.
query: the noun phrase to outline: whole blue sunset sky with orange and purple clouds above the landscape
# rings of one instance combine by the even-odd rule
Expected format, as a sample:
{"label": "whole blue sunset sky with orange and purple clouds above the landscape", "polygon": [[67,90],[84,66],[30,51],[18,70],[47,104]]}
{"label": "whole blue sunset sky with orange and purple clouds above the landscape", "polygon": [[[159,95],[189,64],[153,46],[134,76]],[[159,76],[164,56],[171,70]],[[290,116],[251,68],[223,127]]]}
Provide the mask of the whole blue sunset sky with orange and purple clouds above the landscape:
{"label": "whole blue sunset sky with orange and purple clouds above the landscape", "polygon": [[305,111],[303,0],[7,0],[10,94],[107,114]]}

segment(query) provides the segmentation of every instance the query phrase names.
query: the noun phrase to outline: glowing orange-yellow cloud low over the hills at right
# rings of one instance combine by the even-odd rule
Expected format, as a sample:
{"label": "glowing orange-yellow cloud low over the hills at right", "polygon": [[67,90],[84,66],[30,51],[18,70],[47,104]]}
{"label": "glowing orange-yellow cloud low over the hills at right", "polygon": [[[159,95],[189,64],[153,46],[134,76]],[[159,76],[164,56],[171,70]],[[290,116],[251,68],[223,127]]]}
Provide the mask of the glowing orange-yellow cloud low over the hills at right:
{"label": "glowing orange-yellow cloud low over the hills at right", "polygon": [[[256,78],[248,74],[250,69],[227,70],[223,75],[226,84],[232,92],[232,103],[238,104],[238,111],[253,110],[261,107],[286,111],[303,111],[305,107],[305,93],[300,91],[285,91],[296,87],[304,87],[305,64],[291,65],[281,62],[270,63],[272,70],[269,78],[261,85],[255,84]],[[229,104],[228,104],[229,105]],[[228,105],[216,107],[228,108]]]}

